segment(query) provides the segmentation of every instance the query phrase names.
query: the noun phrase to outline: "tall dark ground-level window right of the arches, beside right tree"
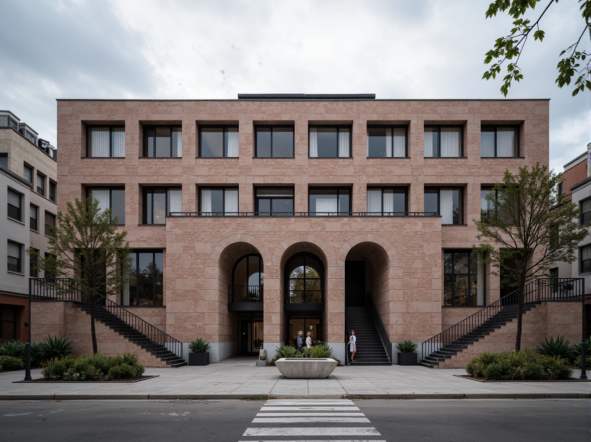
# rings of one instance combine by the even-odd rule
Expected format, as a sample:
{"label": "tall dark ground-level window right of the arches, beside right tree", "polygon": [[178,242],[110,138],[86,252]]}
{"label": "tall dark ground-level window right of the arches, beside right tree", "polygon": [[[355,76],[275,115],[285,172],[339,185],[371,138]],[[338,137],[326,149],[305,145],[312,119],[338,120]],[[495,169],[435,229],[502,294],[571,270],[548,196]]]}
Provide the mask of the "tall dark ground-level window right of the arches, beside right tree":
{"label": "tall dark ground-level window right of the arches, beside right tree", "polygon": [[466,251],[443,251],[443,305],[485,305],[485,267],[482,255]]}

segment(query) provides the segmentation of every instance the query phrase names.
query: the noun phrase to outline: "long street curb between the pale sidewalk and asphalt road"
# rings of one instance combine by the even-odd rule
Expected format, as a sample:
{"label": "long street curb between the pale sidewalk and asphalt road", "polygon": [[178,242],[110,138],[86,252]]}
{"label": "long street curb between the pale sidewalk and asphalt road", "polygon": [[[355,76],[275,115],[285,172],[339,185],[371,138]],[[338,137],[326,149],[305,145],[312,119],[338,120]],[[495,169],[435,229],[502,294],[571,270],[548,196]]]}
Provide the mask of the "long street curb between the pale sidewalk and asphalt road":
{"label": "long street curb between the pale sidewalk and asphalt road", "polygon": [[591,393],[456,393],[456,394],[31,394],[0,395],[0,401],[98,400],[267,400],[267,399],[591,399]]}

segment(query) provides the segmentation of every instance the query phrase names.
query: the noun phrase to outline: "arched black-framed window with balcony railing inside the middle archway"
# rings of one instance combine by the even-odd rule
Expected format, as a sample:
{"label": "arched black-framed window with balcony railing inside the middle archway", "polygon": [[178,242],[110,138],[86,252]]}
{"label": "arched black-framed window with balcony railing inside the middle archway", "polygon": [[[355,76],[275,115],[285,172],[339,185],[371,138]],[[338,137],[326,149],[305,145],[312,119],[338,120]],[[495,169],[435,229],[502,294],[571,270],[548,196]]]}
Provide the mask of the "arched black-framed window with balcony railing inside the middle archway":
{"label": "arched black-framed window with balcony railing inside the middle archway", "polygon": [[324,268],[316,256],[304,252],[285,265],[287,304],[323,303]]}

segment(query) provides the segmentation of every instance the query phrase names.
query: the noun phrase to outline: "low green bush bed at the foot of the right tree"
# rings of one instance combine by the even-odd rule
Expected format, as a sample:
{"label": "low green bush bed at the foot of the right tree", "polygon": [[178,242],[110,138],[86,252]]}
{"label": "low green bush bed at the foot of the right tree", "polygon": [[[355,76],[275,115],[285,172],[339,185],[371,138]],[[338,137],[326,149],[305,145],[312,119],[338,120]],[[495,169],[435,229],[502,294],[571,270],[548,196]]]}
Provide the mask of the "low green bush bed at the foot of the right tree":
{"label": "low green bush bed at the foot of the right tree", "polygon": [[488,381],[541,381],[570,379],[566,360],[537,355],[532,349],[521,352],[485,352],[470,360],[466,373]]}

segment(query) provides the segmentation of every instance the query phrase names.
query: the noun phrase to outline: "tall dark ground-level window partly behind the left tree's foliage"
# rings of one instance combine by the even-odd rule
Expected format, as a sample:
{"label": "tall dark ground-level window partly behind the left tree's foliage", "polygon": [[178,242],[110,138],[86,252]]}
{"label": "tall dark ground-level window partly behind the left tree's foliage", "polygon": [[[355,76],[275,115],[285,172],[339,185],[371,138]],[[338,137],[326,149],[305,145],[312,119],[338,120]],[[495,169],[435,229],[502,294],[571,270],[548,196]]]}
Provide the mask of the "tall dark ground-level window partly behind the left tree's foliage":
{"label": "tall dark ground-level window partly behind the left tree's foliage", "polygon": [[161,307],[164,305],[163,252],[134,251],[131,278],[121,292],[123,306]]}

